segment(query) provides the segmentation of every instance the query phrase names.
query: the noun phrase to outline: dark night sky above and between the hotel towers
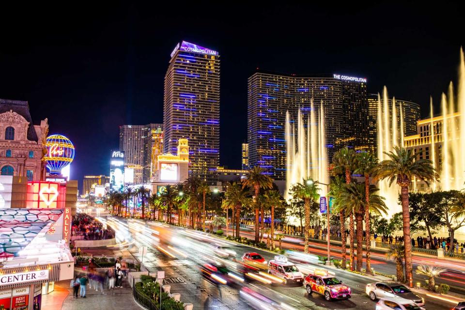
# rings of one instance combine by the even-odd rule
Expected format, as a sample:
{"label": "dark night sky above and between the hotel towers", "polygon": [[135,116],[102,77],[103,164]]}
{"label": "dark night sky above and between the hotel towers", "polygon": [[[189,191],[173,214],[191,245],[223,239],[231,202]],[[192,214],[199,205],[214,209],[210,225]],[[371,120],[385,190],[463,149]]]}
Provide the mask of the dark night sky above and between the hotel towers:
{"label": "dark night sky above and between the hotel towers", "polygon": [[119,125],[163,122],[163,79],[182,40],[221,56],[220,162],[230,168],[240,168],[247,78],[255,68],[365,77],[370,93],[386,85],[426,116],[430,95],[439,112],[441,92],[456,82],[465,44],[463,4],[446,1],[99,2],[0,5],[0,98],[29,101],[35,124],[48,118],[50,134],[74,142],[71,173],[79,187],[85,174],[109,174]]}

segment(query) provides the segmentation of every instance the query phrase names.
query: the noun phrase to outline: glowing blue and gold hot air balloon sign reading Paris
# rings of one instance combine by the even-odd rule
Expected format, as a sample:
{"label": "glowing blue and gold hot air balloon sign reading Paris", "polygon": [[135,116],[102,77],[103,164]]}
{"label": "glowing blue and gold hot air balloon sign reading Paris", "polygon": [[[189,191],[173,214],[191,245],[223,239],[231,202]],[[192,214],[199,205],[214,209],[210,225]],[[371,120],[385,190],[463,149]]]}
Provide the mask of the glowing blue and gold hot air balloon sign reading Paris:
{"label": "glowing blue and gold hot air balloon sign reading Paris", "polygon": [[47,154],[44,160],[47,161],[47,170],[50,175],[60,176],[63,168],[73,161],[73,142],[63,135],[51,135],[47,137],[45,147]]}

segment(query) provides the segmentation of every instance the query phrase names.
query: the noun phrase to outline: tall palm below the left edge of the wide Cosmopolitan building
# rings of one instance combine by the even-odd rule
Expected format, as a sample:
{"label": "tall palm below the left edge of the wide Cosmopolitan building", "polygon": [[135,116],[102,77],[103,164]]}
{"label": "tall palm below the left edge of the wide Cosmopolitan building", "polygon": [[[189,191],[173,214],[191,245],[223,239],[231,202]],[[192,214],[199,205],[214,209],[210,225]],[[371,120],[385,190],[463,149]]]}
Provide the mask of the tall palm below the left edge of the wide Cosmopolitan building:
{"label": "tall palm below the left edge of the wide Cosmopolitan building", "polygon": [[[271,189],[273,188],[273,180],[263,174],[265,170],[260,166],[255,166],[248,171],[248,175],[242,179],[242,188],[249,187],[255,193],[255,242],[260,241],[260,227],[259,227],[259,212],[260,203],[258,196],[260,195],[260,188]],[[263,221],[263,218],[262,218]]]}

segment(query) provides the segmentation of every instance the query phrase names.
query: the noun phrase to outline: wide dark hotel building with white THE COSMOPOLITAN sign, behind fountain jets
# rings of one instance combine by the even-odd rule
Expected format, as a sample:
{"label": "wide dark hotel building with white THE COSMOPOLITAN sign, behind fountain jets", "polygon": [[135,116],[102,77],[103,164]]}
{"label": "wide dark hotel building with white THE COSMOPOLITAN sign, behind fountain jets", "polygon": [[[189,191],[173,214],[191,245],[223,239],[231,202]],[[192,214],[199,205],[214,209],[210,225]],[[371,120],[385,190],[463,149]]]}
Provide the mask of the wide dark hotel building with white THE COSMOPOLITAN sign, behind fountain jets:
{"label": "wide dark hotel building with white THE COSMOPOLITAN sign, behind fountain jets", "polygon": [[323,103],[329,160],[342,146],[368,148],[366,78],[339,74],[297,76],[257,71],[248,78],[248,163],[275,180],[286,176],[286,111],[304,122]]}

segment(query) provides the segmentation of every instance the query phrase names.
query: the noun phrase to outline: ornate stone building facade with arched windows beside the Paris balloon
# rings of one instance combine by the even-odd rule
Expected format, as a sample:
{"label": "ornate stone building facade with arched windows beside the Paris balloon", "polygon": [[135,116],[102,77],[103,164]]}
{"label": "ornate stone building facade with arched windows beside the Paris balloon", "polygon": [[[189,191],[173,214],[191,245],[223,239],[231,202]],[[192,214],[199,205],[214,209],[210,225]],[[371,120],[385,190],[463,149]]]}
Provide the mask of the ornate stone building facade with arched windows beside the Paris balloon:
{"label": "ornate stone building facade with arched windows beside the Paris balloon", "polygon": [[0,99],[0,174],[45,180],[47,119],[32,123],[27,101]]}

